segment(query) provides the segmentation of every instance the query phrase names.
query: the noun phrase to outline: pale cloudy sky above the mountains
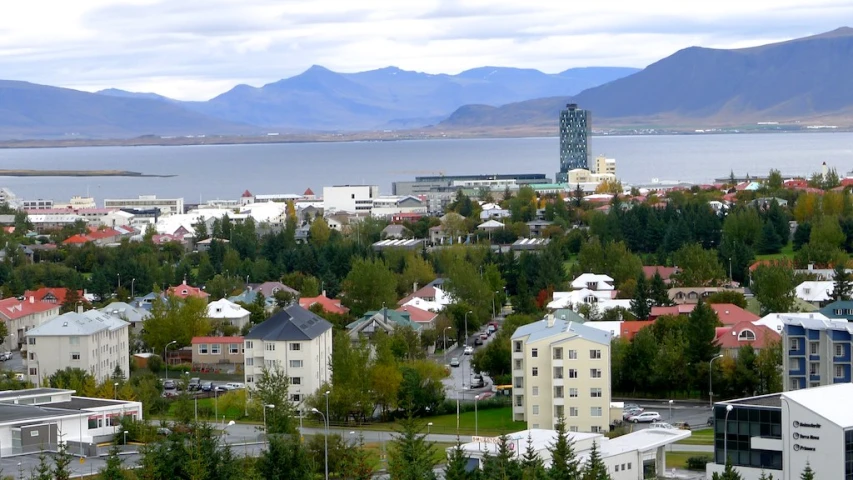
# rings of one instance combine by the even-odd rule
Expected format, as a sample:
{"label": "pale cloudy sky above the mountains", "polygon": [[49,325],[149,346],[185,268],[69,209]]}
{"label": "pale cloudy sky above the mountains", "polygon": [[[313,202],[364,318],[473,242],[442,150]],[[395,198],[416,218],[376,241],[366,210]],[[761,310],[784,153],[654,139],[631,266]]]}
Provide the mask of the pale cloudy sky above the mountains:
{"label": "pale cloudy sky above the mountains", "polygon": [[311,65],[458,73],[643,67],[853,22],[851,0],[27,0],[0,13],[0,78],[204,100]]}

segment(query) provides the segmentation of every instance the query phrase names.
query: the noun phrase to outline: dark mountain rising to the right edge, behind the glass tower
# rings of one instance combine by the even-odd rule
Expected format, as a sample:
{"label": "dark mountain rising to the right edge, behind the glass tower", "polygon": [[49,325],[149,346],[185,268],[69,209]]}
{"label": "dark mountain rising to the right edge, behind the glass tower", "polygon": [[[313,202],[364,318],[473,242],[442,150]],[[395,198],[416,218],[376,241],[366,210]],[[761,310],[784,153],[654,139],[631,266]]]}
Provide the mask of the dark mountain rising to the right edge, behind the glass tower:
{"label": "dark mountain rising to the right edge, behind the glass tower", "polygon": [[737,123],[853,117],[853,29],[754,48],[690,47],[641,72],[568,96],[466,105],[443,127],[555,125],[571,100],[605,123]]}

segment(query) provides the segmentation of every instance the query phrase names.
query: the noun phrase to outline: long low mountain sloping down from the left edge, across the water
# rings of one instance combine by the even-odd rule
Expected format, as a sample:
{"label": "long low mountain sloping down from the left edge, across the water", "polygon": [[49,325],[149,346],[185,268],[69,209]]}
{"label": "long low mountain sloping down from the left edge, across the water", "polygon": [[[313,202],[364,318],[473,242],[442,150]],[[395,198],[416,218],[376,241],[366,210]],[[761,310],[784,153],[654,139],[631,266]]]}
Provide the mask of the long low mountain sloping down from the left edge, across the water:
{"label": "long low mountain sloping down from the left edge, across the water", "polygon": [[0,139],[252,132],[168,102],[0,80]]}

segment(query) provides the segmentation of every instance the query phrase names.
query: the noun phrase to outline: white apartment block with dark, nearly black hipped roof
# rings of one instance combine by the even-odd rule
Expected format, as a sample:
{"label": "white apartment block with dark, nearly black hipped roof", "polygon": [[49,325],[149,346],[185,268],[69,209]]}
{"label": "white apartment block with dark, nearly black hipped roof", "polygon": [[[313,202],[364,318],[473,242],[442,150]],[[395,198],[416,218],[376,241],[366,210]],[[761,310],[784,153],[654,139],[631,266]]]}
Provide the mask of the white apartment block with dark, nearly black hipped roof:
{"label": "white apartment block with dark, nearly black hipped roof", "polygon": [[245,383],[254,387],[264,369],[290,378],[290,400],[299,403],[332,379],[332,324],[291,305],[258,324],[244,339]]}

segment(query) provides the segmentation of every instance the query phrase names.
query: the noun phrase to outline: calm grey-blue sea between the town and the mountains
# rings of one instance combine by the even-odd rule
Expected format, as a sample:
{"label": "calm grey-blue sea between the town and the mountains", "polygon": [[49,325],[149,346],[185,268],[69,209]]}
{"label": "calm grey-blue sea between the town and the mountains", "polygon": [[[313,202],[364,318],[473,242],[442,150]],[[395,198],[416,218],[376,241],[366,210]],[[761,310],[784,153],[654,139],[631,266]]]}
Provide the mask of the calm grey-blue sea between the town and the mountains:
{"label": "calm grey-blue sea between the town and the mountains", "polygon": [[[623,183],[709,183],[714,178],[809,175],[826,162],[853,169],[853,133],[764,133],[595,136],[594,156],[615,158]],[[254,194],[318,195],[329,185],[378,185],[424,175],[544,173],[559,169],[559,140],[488,138],[347,143],[281,143],[169,147],[0,149],[3,169],[117,169],[170,178],[3,177],[0,187],[26,199],[67,201],[73,195],[183,197],[187,203]]]}

